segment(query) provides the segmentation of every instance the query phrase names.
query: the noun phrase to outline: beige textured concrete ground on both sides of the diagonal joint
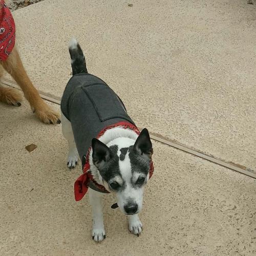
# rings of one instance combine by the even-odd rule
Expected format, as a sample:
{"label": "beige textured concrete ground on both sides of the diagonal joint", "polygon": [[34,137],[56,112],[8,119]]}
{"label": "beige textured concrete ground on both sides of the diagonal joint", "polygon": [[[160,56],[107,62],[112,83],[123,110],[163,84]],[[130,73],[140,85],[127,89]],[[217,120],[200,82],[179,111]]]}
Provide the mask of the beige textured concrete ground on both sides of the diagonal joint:
{"label": "beige textured concrete ground on both sides of the diagonal joint", "polygon": [[[119,94],[138,126],[255,170],[255,5],[127,4],[45,0],[15,11],[20,55],[35,86],[61,96],[75,36],[89,72]],[[1,255],[256,253],[255,180],[155,141],[142,236],[129,233],[109,196],[107,238],[95,244],[88,197],[74,201],[81,167],[67,170],[61,126],[41,124],[26,102],[0,108]],[[37,145],[31,153],[30,143]]]}

